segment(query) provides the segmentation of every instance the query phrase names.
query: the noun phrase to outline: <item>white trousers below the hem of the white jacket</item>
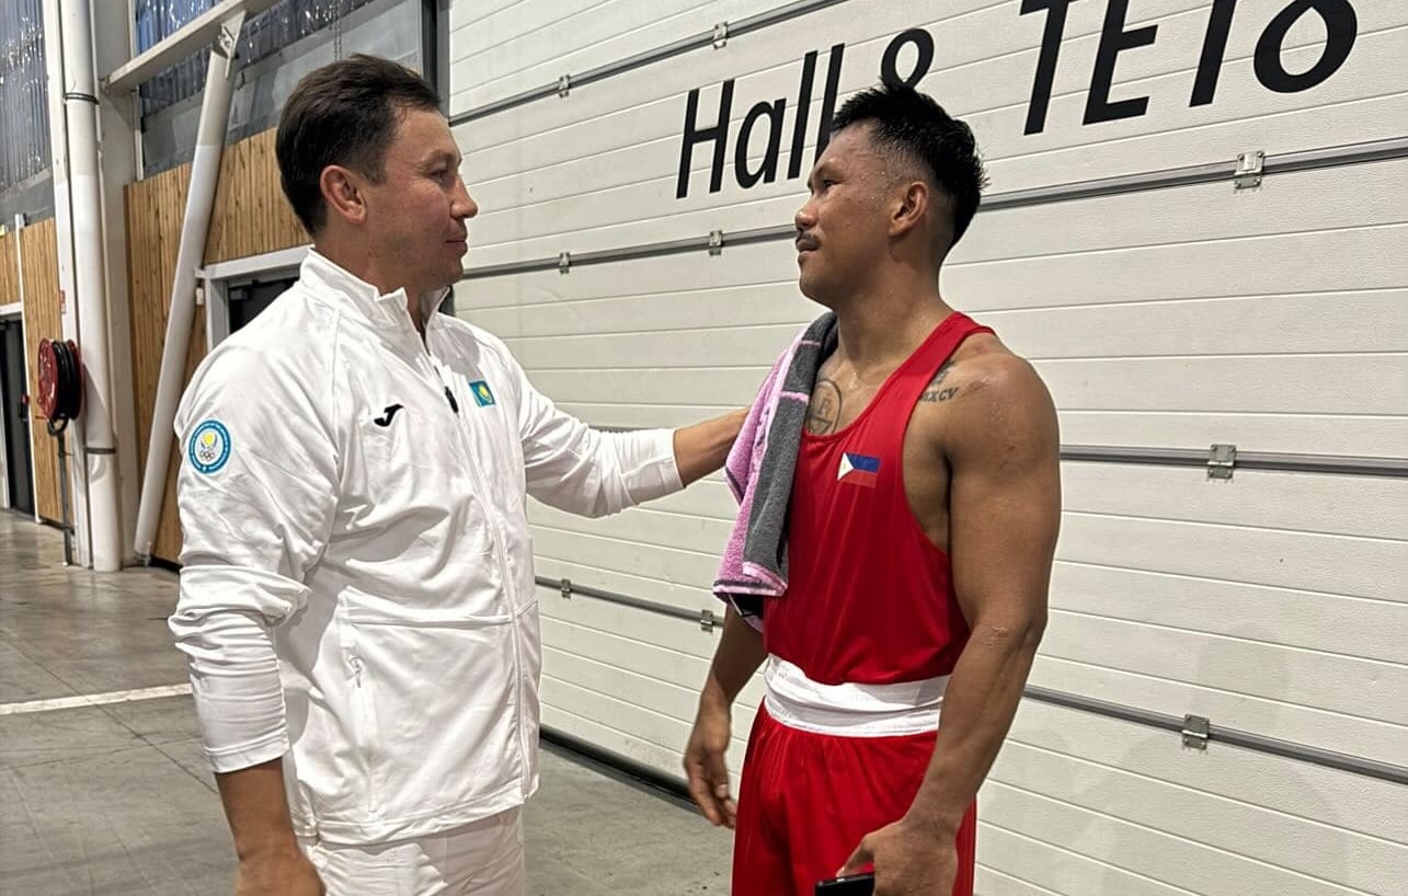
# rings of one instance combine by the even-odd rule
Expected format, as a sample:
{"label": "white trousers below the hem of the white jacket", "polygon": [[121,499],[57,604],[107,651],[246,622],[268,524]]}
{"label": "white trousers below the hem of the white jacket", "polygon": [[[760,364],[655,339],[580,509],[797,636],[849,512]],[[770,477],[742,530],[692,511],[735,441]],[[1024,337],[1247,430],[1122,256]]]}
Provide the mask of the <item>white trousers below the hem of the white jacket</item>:
{"label": "white trousers below the hem of the white jacket", "polygon": [[522,810],[434,837],[344,845],[300,840],[328,896],[524,896]]}

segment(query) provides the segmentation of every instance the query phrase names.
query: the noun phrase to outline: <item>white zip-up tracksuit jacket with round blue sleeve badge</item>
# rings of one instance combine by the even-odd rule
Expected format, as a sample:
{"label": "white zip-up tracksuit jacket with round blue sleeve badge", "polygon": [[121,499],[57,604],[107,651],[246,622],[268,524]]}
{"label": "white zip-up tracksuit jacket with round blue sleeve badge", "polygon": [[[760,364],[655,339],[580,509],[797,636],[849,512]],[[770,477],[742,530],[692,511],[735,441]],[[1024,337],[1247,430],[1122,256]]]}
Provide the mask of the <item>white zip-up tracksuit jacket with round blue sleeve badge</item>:
{"label": "white zip-up tracksuit jacket with round blue sleeve badge", "polygon": [[601,433],[503,342],[310,253],[176,415],[170,619],[215,771],[284,757],[294,828],[449,830],[538,785],[525,495],[614,513],[680,488],[669,430]]}

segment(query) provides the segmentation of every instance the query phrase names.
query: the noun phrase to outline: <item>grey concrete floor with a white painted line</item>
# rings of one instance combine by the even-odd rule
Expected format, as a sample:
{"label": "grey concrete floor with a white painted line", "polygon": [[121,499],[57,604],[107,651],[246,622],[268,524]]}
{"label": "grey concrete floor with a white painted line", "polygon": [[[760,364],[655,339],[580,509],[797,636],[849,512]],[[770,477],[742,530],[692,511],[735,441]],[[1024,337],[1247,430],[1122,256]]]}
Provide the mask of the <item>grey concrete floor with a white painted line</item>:
{"label": "grey concrete floor with a white painted line", "polygon": [[[20,706],[186,682],[176,577],[62,565],[62,537],[0,511],[0,895],[232,892],[234,855],[190,696]],[[729,834],[545,751],[525,814],[534,896],[727,893]]]}

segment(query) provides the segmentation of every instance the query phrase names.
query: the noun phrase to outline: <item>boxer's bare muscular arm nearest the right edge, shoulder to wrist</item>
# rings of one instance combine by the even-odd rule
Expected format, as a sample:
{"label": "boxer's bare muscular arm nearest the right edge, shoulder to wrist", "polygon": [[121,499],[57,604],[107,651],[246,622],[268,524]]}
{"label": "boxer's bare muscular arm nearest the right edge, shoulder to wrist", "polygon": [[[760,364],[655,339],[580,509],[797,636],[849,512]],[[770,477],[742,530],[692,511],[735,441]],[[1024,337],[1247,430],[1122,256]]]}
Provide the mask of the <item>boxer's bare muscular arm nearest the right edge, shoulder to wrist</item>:
{"label": "boxer's bare muscular arm nearest the right edge, shoulder to wrist", "polygon": [[[952,841],[1007,737],[1046,625],[1060,525],[1056,412],[1021,359],[984,359],[955,401],[949,554],[972,629],[949,678],[938,745],[910,819]],[[957,433],[957,435],[953,435]]]}

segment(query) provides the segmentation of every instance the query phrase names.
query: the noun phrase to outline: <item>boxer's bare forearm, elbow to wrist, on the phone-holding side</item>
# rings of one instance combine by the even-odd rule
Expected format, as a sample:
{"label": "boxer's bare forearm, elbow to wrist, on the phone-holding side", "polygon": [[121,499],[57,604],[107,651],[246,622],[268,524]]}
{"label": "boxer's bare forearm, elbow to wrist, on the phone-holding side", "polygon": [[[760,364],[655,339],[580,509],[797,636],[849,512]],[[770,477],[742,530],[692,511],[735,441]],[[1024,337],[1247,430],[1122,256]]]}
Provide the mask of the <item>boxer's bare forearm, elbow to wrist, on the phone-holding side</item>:
{"label": "boxer's bare forearm, elbow to wrist, on the phone-holding side", "polygon": [[973,629],[943,695],[939,738],[910,817],[939,837],[957,833],[1017,715],[1041,625]]}

